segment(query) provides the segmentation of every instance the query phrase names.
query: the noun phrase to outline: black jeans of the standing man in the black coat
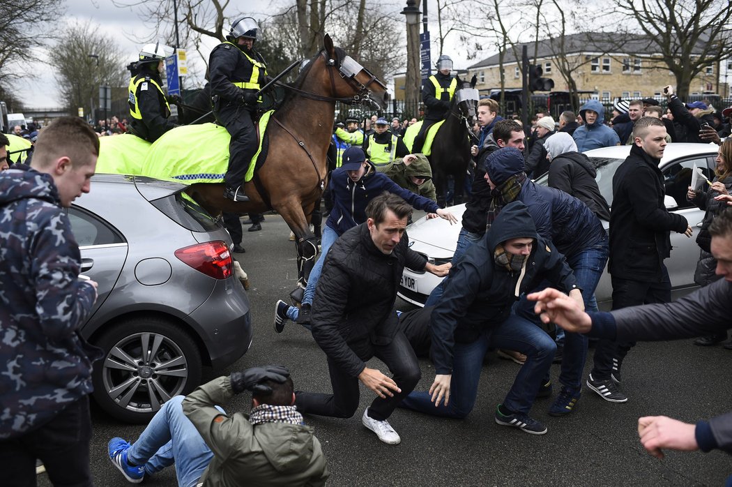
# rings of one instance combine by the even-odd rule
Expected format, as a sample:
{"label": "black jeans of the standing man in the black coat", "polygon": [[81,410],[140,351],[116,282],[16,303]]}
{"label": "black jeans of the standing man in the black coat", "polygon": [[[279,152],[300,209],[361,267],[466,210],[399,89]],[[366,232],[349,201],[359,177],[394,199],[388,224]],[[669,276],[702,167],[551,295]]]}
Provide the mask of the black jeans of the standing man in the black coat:
{"label": "black jeans of the standing man in the black coat", "polygon": [[[654,302],[671,302],[671,279],[668,278],[668,269],[663,264],[661,264],[661,280],[657,282],[646,283],[612,277],[612,283],[613,310]],[[622,361],[633,346],[635,346],[635,341],[598,341],[594,354],[592,378],[596,380],[610,379],[613,358]]]}

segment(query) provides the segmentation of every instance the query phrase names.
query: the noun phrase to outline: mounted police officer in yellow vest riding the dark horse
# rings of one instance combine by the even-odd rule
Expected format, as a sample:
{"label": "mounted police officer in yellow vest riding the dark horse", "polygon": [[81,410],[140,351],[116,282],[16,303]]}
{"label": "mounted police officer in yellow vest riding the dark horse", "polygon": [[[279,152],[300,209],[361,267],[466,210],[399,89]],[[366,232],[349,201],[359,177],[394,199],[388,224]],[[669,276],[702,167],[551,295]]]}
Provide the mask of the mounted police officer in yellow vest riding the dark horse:
{"label": "mounted police officer in yellow vest riding the dark horse", "polygon": [[425,119],[412,144],[412,152],[422,152],[427,130],[435,122],[444,120],[450,109],[450,101],[458,89],[458,80],[450,75],[452,59],[450,56],[440,56],[437,59],[437,74],[431,75],[422,84],[422,103],[427,107]]}

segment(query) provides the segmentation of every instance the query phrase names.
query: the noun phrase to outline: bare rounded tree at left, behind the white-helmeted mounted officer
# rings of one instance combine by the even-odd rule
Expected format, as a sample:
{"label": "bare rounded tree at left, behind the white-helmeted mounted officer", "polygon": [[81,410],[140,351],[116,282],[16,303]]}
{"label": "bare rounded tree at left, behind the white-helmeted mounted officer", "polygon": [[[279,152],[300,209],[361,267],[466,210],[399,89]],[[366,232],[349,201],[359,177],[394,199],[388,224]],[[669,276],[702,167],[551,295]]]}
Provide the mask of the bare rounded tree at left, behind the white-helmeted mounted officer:
{"label": "bare rounded tree at left, behind the white-helmeted mounted officer", "polygon": [[110,37],[92,23],[69,26],[53,48],[51,65],[61,99],[71,111],[83,107],[91,113],[99,87],[111,86],[113,99],[124,96],[130,77],[124,70],[124,54]]}

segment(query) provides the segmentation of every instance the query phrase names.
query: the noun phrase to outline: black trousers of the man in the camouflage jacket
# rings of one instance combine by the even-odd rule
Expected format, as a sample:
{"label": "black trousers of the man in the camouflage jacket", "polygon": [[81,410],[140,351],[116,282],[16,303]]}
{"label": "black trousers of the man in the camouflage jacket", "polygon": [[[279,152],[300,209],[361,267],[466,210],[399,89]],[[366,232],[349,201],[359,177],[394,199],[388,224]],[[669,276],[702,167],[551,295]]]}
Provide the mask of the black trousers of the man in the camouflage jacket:
{"label": "black trousers of the man in the camouflage jacket", "polygon": [[23,436],[0,441],[2,485],[36,485],[36,458],[54,486],[91,486],[89,397],[84,396],[51,421]]}

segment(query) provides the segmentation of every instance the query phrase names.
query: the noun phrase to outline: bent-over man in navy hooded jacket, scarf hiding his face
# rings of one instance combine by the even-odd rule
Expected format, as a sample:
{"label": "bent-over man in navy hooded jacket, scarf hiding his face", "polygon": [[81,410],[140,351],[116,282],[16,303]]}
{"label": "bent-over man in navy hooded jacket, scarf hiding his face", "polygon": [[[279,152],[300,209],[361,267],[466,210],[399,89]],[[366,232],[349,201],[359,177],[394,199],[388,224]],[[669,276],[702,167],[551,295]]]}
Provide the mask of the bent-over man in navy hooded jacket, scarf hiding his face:
{"label": "bent-over man in navy hooded jacket, scarf hiding his face", "polygon": [[[488,157],[485,165],[485,179],[493,197],[488,209],[488,227],[504,205],[511,201],[523,201],[537,225],[537,233],[552,242],[566,257],[577,279],[577,286],[582,290],[584,308],[597,311],[594,290],[608,261],[608,234],[597,215],[578,198],[553,187],[536,185],[527,179],[523,172],[523,155],[518,149],[499,149]],[[539,289],[545,287],[545,283],[539,285]],[[515,311],[540,325],[526,296],[516,303]],[[561,392],[549,408],[552,416],[569,414],[577,404],[586,357],[587,338],[577,333],[567,333],[559,376]]]}

